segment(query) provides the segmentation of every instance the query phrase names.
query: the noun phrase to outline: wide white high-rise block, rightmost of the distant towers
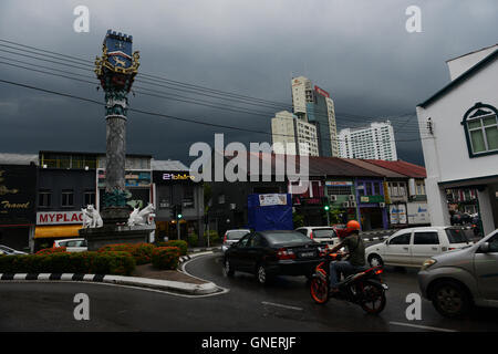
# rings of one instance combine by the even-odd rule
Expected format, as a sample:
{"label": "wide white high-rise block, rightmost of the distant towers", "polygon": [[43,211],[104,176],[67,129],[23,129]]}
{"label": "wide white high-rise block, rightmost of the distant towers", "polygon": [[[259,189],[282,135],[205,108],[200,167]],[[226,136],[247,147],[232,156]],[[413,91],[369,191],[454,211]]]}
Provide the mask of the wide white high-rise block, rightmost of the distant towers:
{"label": "wide white high-rise block, rightmost of the distant towers", "polygon": [[344,158],[397,160],[394,129],[390,121],[339,133],[339,154]]}

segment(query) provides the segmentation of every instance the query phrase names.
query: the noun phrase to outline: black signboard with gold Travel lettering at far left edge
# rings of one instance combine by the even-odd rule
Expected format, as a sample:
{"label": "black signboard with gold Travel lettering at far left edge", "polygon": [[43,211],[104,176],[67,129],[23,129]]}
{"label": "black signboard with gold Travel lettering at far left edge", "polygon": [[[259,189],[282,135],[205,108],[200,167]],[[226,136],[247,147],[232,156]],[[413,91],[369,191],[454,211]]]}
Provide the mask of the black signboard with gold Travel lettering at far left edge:
{"label": "black signboard with gold Travel lettering at far left edge", "polygon": [[0,225],[33,225],[37,166],[0,165]]}

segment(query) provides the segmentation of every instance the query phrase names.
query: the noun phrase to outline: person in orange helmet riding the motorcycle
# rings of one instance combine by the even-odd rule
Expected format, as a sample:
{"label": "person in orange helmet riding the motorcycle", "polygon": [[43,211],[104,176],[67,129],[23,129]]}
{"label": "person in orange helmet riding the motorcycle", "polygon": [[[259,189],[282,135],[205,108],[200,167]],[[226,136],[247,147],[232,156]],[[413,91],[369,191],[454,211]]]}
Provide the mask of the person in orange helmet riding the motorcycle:
{"label": "person in orange helmet riding the motorcycle", "polygon": [[365,266],[365,244],[360,237],[360,222],[351,220],[346,225],[342,241],[330,250],[331,253],[336,252],[343,247],[347,248],[350,258],[345,261],[330,263],[330,290],[338,292],[339,274],[352,274]]}

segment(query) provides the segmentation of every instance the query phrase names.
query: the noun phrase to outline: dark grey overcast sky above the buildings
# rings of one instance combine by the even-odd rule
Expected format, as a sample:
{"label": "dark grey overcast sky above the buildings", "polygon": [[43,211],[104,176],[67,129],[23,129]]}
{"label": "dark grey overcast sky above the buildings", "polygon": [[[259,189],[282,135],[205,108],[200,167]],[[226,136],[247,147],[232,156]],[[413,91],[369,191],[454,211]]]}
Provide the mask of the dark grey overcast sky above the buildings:
{"label": "dark grey overcast sky above the buildings", "polygon": [[[90,9],[87,33],[73,30],[76,6]],[[409,6],[422,9],[422,33],[406,31]],[[339,127],[391,117],[395,129],[401,129],[396,135],[398,157],[423,164],[416,117],[406,114],[415,114],[418,103],[449,82],[446,60],[498,43],[497,9],[496,0],[1,0],[0,39],[93,61],[101,55],[107,29],[113,29],[133,35],[134,50],[141,52],[141,73],[288,105],[291,77],[305,75],[331,94]],[[7,53],[13,50],[3,44],[0,42],[0,79],[104,101],[96,84],[1,62],[21,60],[93,75],[91,71],[35,61],[30,53],[21,58]],[[175,87],[149,88],[163,91],[160,95],[211,101],[263,115],[138,93],[129,96],[131,106],[264,132],[270,132],[270,119],[279,111]],[[0,122],[3,153],[105,152],[104,108],[98,105],[0,83]],[[211,143],[215,133],[247,146],[249,142],[271,143],[268,135],[129,113],[127,152],[188,163],[190,145]]]}

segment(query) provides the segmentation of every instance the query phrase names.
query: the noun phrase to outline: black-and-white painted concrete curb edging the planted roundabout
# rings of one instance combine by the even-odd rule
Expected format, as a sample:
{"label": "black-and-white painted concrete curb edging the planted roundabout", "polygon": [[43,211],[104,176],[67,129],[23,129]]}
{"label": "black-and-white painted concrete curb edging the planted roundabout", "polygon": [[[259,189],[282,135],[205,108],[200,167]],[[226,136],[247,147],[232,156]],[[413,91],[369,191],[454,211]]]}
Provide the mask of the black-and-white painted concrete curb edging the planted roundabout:
{"label": "black-and-white painted concrete curb edging the planted roundabout", "polygon": [[179,281],[158,280],[138,277],[80,274],[80,273],[0,273],[0,282],[3,281],[85,281],[121,285],[167,290],[190,295],[206,295],[221,291],[215,283],[191,284]]}

